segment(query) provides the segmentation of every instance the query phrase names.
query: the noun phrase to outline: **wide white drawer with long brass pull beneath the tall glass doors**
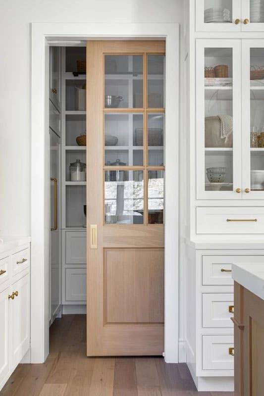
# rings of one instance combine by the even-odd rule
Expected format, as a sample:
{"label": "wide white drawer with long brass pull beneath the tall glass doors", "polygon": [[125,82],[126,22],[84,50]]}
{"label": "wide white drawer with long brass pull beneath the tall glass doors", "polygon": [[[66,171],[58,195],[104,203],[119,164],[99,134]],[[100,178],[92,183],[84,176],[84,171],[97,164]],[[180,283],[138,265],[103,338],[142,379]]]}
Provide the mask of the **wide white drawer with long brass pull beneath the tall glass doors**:
{"label": "wide white drawer with long brass pull beneath the tall glass doors", "polygon": [[264,233],[264,207],[198,207],[196,220],[197,234]]}

